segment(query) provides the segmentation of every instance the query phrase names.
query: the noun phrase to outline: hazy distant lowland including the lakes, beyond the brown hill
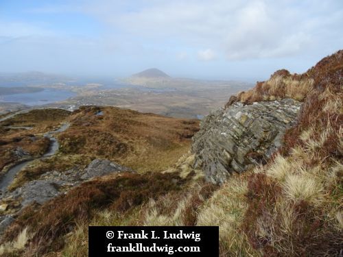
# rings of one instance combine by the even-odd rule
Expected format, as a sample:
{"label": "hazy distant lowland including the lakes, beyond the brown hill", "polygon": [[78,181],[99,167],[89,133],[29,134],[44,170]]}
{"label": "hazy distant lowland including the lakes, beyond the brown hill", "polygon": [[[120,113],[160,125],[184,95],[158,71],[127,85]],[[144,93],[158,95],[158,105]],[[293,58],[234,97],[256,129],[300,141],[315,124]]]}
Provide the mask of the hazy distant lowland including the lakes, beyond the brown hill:
{"label": "hazy distant lowland including the lakes, beyond the brown hill", "polygon": [[252,87],[246,82],[173,77],[130,77],[125,83],[95,82],[97,79],[72,84],[0,87],[0,114],[38,106],[75,110],[94,105],[196,119],[224,106],[230,95]]}

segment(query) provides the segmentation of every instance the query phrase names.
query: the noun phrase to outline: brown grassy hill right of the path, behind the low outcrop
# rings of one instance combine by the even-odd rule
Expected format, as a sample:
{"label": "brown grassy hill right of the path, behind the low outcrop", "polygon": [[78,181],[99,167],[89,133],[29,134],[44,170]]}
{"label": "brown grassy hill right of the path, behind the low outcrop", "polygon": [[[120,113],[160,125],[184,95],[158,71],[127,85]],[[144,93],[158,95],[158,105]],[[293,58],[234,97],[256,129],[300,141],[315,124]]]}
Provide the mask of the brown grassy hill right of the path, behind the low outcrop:
{"label": "brown grassy hill right of the path, behind the low outcrop", "polygon": [[[96,115],[98,112],[102,115]],[[61,154],[108,158],[139,172],[162,171],[185,154],[199,121],[114,107],[82,107],[58,135]]]}

